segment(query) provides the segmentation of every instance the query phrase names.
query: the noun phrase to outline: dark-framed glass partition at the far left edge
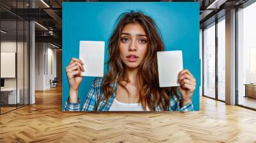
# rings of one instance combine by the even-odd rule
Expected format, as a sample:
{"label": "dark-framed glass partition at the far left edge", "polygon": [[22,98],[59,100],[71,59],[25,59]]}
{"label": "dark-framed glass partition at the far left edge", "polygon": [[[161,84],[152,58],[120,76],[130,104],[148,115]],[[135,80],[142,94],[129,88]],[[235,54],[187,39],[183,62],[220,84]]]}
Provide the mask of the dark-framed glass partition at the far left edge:
{"label": "dark-framed glass partition at the far left edge", "polygon": [[29,103],[29,22],[11,11],[29,1],[0,1],[0,114]]}

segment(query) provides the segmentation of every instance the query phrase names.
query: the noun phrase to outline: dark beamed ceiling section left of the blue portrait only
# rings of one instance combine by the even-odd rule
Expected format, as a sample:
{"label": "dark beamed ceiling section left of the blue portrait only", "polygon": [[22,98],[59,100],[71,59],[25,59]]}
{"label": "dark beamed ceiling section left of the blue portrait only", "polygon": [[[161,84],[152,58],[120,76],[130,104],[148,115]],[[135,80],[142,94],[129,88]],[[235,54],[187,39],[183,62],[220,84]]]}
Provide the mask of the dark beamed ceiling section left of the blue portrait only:
{"label": "dark beamed ceiling section left of the blue portrait only", "polygon": [[1,29],[8,32],[1,33],[1,38],[12,40],[17,36],[19,40],[23,33],[28,31],[28,27],[24,27],[28,26],[28,22],[25,24],[23,22],[34,20],[36,22],[35,40],[50,42],[61,47],[61,3],[61,0],[1,0]]}

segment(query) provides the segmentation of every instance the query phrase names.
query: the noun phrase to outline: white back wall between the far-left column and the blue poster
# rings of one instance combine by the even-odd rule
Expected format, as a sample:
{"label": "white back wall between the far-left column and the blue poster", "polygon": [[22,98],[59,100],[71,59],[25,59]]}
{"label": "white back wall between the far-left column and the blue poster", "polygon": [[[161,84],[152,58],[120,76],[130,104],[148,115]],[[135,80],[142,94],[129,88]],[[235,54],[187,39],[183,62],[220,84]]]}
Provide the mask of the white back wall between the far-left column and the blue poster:
{"label": "white back wall between the far-left column and the blue poster", "polygon": [[56,77],[56,49],[49,43],[36,43],[35,47],[35,90],[49,89],[50,79]]}

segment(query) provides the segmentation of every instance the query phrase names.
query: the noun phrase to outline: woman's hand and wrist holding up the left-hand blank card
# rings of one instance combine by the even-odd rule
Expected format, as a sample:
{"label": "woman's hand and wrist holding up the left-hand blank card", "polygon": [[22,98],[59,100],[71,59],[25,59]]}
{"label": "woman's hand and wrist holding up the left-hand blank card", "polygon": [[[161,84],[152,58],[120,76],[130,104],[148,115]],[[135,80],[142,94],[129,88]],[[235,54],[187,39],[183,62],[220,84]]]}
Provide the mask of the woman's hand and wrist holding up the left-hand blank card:
{"label": "woman's hand and wrist holding up the left-hand blank card", "polygon": [[80,59],[72,57],[70,63],[65,68],[69,84],[69,101],[71,103],[78,102],[77,91],[83,80],[81,73],[84,72],[83,64],[84,63]]}

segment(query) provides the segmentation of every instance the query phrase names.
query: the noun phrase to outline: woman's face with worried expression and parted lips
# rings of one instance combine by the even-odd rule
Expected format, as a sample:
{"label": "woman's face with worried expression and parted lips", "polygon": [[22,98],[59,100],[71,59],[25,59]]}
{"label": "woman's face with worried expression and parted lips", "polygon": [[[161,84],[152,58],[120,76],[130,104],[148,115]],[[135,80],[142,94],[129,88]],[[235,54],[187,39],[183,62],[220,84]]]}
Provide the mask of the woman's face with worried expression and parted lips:
{"label": "woman's face with worried expression and parted lips", "polygon": [[124,64],[138,68],[148,49],[147,35],[139,23],[126,24],[118,41],[118,50]]}

